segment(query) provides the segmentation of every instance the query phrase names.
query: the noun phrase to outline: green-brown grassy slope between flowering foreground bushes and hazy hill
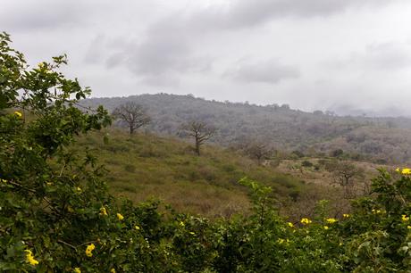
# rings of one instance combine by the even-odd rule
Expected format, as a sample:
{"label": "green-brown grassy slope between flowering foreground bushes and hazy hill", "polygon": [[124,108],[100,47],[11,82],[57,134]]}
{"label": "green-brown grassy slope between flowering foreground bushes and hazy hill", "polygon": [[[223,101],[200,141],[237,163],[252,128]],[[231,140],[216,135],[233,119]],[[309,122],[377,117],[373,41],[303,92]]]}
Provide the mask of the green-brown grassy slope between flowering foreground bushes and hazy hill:
{"label": "green-brown grassy slope between flowering foreground bushes and hazy hill", "polygon": [[[103,141],[105,135],[108,143]],[[313,213],[315,203],[322,199],[331,201],[335,213],[348,206],[348,200],[341,201],[340,188],[331,183],[330,173],[296,168],[298,160],[262,166],[212,145],[204,146],[202,156],[197,156],[191,144],[181,140],[149,134],[129,136],[114,128],[81,136],[74,145],[80,151],[86,147],[108,170],[111,192],[135,203],[154,198],[176,211],[230,217],[249,207],[247,189],[238,183],[247,177],[272,186],[281,213],[292,219]],[[367,176],[373,176],[375,166],[368,167]]]}

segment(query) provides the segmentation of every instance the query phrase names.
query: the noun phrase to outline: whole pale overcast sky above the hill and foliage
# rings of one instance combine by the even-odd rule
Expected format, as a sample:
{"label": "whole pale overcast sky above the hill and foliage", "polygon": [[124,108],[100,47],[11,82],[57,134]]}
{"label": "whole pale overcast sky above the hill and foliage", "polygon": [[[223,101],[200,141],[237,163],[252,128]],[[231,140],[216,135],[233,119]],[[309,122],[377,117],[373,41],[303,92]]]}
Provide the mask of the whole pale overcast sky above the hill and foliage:
{"label": "whole pale overcast sky above the hill and foliage", "polygon": [[31,64],[93,96],[193,94],[411,115],[409,0],[0,0]]}

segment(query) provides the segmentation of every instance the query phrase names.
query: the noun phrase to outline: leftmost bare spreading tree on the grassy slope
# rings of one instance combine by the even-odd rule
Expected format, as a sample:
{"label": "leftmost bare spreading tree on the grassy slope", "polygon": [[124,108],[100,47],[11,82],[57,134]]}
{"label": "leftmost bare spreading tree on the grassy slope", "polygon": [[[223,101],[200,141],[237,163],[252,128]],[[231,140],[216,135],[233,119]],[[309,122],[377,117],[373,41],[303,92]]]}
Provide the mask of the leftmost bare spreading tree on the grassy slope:
{"label": "leftmost bare spreading tree on the grassy slope", "polygon": [[113,117],[127,124],[130,135],[132,135],[136,129],[151,121],[151,118],[147,115],[143,106],[133,102],[123,103],[116,107],[113,111]]}

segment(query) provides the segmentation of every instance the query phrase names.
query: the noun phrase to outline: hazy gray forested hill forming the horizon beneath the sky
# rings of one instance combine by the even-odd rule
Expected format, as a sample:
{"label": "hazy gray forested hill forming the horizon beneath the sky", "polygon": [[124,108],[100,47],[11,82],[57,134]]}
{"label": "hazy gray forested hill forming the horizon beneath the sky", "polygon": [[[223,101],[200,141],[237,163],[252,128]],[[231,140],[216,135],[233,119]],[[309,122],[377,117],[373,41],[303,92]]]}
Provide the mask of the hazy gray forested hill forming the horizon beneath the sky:
{"label": "hazy gray forested hill forming the horizon beneath the sky", "polygon": [[152,122],[146,128],[159,134],[176,135],[181,124],[202,120],[218,129],[214,142],[219,145],[255,141],[308,155],[341,149],[355,159],[411,161],[411,120],[407,118],[340,117],[331,112],[292,110],[288,105],[222,103],[193,95],[92,98],[81,104],[102,104],[113,111],[128,101],[147,108]]}

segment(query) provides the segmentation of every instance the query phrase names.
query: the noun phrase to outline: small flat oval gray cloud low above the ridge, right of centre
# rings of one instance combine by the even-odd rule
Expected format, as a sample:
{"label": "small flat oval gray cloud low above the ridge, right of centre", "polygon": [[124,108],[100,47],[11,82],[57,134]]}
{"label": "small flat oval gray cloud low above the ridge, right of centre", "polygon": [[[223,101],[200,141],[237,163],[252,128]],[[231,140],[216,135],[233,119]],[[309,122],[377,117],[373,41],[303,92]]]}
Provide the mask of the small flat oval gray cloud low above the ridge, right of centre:
{"label": "small flat oval gray cloud low above the ridge, right of centre", "polygon": [[276,84],[284,79],[297,79],[300,71],[296,67],[282,65],[276,60],[243,63],[225,73],[225,76],[245,82]]}

